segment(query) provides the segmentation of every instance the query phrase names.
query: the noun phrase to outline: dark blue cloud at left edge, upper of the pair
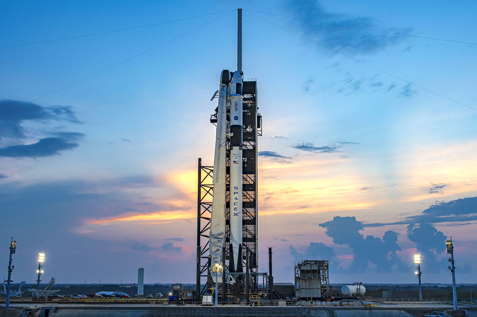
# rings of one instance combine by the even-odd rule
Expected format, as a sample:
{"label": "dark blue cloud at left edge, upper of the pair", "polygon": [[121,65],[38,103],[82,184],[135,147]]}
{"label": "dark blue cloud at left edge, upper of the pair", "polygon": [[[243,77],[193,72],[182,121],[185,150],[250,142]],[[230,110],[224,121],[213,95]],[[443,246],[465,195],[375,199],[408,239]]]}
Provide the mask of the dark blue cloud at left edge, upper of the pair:
{"label": "dark blue cloud at left edge, upper of the pair", "polygon": [[[25,102],[18,100],[1,100],[0,111],[5,112],[21,106]],[[0,116],[0,138],[26,139],[25,129],[21,126],[24,121],[48,122],[52,120],[67,121],[81,124],[70,106],[42,107],[29,103],[20,109],[7,112]]]}

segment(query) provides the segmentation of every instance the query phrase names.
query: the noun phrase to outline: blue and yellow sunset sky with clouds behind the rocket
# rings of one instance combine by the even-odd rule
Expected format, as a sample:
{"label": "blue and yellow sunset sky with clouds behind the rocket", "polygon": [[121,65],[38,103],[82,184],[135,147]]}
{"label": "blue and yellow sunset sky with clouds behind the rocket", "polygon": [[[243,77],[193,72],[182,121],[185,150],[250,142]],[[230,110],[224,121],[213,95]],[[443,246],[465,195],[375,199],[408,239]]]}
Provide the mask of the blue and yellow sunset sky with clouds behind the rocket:
{"label": "blue and yellow sunset sky with clouds behind the rocket", "polygon": [[[236,69],[237,5],[0,4],[0,259],[13,237],[14,281],[36,280],[42,252],[58,283],[134,283],[138,267],[145,283],[195,282],[197,158],[213,164],[210,98]],[[416,283],[420,252],[423,283],[448,284],[452,237],[457,283],[476,283],[477,4],[240,6],[263,116],[259,271],[272,247],[276,282],[306,258],[329,260],[331,283]]]}

